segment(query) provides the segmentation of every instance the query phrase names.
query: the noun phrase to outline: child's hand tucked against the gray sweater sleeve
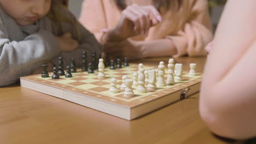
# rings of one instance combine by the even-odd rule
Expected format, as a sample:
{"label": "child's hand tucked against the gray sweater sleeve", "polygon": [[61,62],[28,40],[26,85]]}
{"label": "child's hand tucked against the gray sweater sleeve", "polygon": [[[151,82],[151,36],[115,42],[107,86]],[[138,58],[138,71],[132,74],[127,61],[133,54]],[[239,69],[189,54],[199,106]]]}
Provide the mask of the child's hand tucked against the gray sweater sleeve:
{"label": "child's hand tucked against the gray sweater sleeve", "polygon": [[78,42],[72,38],[71,33],[65,33],[61,37],[56,37],[60,44],[62,52],[71,52],[77,49]]}

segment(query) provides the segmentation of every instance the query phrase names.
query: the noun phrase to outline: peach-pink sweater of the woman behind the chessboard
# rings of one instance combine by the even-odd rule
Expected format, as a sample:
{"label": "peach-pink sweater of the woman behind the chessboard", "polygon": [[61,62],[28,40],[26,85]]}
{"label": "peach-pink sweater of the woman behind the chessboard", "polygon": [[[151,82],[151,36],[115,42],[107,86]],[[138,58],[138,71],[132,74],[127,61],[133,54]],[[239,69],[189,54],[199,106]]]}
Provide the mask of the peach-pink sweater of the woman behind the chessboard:
{"label": "peach-pink sweater of the woman behind the chessboard", "polygon": [[[150,5],[148,0],[127,0],[127,4]],[[103,28],[114,28],[121,16],[113,0],[86,0],[83,3],[80,22],[103,43],[100,32]],[[204,56],[205,46],[212,40],[211,22],[207,0],[183,0],[179,10],[168,10],[161,14],[162,22],[149,29],[147,37],[137,35],[133,40],[151,41],[171,39],[177,55]],[[163,51],[163,54],[165,52]]]}

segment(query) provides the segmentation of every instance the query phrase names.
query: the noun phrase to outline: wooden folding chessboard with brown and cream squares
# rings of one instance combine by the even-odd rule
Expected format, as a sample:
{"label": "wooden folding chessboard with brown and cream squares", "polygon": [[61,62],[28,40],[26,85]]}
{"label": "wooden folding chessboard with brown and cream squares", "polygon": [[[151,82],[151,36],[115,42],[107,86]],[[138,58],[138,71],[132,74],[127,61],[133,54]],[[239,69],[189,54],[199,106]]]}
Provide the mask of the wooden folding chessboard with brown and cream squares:
{"label": "wooden folding chessboard with brown and cream squares", "polygon": [[[145,70],[155,69],[144,65]],[[202,75],[189,76],[188,72],[183,71],[183,81],[172,86],[158,87],[154,92],[138,93],[134,88],[135,97],[126,98],[124,92],[120,90],[122,76],[127,75],[132,79],[132,74],[138,71],[137,64],[130,64],[129,67],[110,70],[105,68],[105,79],[97,79],[97,70],[94,74],[88,74],[78,70],[72,73],[73,77],[60,79],[43,78],[40,75],[21,77],[21,86],[33,89],[34,91],[53,95],[61,99],[72,101],[80,105],[91,107],[92,109],[109,113],[124,119],[134,119],[159,107],[173,103],[181,99],[182,93],[189,88],[187,95],[198,92],[201,85]],[[165,70],[167,79],[167,69]],[[50,76],[52,73],[50,73]],[[110,79],[117,79],[119,93],[109,92]],[[184,95],[183,95],[184,96]]]}

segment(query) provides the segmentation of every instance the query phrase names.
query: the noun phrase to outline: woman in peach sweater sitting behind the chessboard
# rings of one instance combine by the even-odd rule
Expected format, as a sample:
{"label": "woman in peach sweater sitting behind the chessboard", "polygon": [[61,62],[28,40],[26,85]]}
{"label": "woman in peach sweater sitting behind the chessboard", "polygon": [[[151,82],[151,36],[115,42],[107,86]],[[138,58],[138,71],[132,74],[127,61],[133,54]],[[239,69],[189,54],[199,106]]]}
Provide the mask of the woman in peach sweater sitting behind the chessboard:
{"label": "woman in peach sweater sitting behind the chessboard", "polygon": [[84,1],[80,22],[112,55],[204,56],[212,40],[206,0]]}

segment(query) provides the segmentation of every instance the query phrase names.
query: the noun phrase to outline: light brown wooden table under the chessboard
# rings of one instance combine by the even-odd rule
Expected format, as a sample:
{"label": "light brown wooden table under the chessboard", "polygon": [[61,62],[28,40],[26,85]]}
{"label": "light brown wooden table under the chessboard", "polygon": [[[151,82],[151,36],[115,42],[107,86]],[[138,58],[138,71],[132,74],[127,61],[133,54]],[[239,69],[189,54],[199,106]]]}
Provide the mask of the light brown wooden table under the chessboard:
{"label": "light brown wooden table under the chessboard", "polygon": [[[158,65],[168,58],[143,59]],[[177,58],[183,68],[206,57]],[[231,143],[210,133],[199,115],[199,93],[133,121],[14,84],[0,88],[0,143]]]}

